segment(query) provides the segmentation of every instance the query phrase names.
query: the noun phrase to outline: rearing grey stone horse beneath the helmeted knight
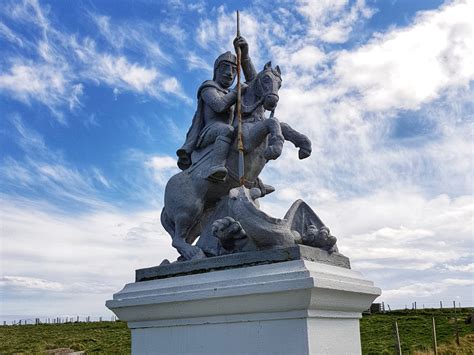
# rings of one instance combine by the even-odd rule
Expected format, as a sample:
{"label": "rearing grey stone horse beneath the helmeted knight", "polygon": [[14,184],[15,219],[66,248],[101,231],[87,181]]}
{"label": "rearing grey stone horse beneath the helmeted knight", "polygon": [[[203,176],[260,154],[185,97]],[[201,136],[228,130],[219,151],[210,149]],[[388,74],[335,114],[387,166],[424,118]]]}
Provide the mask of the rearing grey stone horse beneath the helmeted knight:
{"label": "rearing grey stone horse beneath the helmeted knight", "polygon": [[[247,188],[259,188],[262,196],[274,189],[264,185],[258,176],[269,160],[277,159],[281,155],[285,140],[299,148],[300,159],[311,154],[311,141],[305,135],[273,117],[281,82],[279,66],[272,68],[271,62],[268,62],[248,83],[242,95],[244,185]],[[269,118],[264,115],[266,110],[272,112]],[[234,116],[234,126],[236,125]],[[193,152],[192,165],[172,176],[166,184],[161,223],[171,235],[173,247],[181,255],[178,260],[206,257],[206,254],[192,243],[200,235],[202,221],[210,215],[216,204],[227,196],[232,188],[240,186],[237,145],[237,137],[234,137],[227,157],[228,176],[225,181],[213,182],[207,179],[212,156],[210,145]]]}

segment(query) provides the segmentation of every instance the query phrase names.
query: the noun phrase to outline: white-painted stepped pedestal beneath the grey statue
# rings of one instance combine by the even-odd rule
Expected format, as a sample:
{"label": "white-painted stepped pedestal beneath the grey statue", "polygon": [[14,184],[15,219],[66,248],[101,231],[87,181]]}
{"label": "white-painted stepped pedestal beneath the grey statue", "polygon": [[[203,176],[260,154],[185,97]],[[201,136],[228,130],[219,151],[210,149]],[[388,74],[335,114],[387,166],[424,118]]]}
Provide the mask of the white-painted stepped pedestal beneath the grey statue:
{"label": "white-painted stepped pedestal beneath the grey statue", "polygon": [[295,260],[131,283],[107,307],[133,354],[360,354],[378,295],[356,271]]}

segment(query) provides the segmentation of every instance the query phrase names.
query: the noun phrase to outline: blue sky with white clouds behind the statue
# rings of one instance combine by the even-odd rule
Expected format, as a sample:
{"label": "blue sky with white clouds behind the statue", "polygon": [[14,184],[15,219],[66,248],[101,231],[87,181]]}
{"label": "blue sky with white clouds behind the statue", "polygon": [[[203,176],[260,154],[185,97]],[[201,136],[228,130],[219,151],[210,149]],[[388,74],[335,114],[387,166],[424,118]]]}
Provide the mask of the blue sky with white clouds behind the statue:
{"label": "blue sky with white clouds behind the statue", "polygon": [[304,199],[391,308],[473,306],[474,1],[13,1],[0,7],[0,320],[110,316],[161,227],[199,85],[233,50],[282,71],[305,133],[262,209]]}

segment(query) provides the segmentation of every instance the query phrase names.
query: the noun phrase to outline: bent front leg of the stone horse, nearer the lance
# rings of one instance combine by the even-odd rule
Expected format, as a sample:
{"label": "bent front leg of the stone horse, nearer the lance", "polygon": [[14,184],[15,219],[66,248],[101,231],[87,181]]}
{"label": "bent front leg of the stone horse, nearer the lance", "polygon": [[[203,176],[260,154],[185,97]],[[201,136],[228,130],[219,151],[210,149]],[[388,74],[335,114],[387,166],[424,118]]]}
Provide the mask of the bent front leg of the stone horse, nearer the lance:
{"label": "bent front leg of the stone horse, nearer the lance", "polygon": [[244,149],[247,152],[254,150],[270,135],[268,145],[265,149],[265,159],[277,159],[283,150],[285,138],[281,132],[280,122],[276,118],[268,118],[255,123],[249,131],[248,136],[244,139]]}

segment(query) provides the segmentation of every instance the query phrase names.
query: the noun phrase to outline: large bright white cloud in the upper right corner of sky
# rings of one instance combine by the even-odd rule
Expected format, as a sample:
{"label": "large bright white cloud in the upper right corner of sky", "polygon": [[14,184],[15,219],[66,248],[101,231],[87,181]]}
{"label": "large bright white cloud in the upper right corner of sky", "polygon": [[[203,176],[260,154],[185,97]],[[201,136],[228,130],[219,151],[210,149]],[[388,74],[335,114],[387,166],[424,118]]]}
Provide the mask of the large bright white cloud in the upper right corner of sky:
{"label": "large bright white cloud in the upper right corner of sky", "polygon": [[474,79],[472,13],[470,1],[448,3],[342,52],[335,64],[339,84],[359,91],[369,110],[417,109],[443,89],[467,87]]}

